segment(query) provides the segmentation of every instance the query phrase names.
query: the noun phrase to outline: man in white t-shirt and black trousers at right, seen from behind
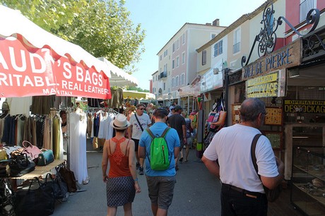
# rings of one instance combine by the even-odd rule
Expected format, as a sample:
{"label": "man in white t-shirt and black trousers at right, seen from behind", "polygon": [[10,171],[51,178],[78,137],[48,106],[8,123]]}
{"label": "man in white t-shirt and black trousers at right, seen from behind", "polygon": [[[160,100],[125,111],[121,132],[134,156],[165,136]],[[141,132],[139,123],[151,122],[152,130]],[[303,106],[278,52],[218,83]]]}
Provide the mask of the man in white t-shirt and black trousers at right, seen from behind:
{"label": "man in white t-shirt and black trousers at right, seen from behind", "polygon": [[[215,176],[220,175],[221,215],[267,215],[268,200],[263,185],[276,188],[283,180],[284,164],[273,153],[271,143],[261,136],[256,143],[256,162],[252,162],[251,146],[264,124],[265,104],[249,98],[240,107],[240,124],[222,128],[215,134],[202,161]],[[216,162],[218,160],[218,163]]]}

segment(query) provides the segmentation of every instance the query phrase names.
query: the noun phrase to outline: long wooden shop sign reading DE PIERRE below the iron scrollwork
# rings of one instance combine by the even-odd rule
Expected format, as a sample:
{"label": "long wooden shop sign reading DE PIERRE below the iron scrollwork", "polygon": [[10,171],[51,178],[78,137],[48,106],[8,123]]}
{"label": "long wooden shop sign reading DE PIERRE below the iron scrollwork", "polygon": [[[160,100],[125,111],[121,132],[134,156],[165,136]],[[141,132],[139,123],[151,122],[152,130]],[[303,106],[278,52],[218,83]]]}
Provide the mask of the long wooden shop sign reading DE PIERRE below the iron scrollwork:
{"label": "long wooden shop sign reading DE PIERRE below the iron scrollwork", "polygon": [[261,57],[242,68],[242,80],[264,75],[281,68],[290,68],[300,64],[301,40],[296,40],[286,47],[278,49],[265,57]]}

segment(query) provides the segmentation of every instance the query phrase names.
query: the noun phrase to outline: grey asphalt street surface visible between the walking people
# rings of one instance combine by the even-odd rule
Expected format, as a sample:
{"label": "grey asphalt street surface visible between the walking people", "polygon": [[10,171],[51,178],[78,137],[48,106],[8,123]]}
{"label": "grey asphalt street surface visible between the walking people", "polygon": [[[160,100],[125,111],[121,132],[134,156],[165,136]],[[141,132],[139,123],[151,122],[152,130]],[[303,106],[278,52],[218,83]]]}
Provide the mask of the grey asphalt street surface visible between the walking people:
{"label": "grey asphalt street surface visible between the walking people", "polygon": [[[91,143],[87,142],[88,150]],[[70,195],[67,202],[58,203],[54,214],[61,215],[106,215],[106,188],[102,181],[102,152],[88,151],[89,184],[81,185],[81,191]],[[174,198],[168,215],[220,215],[220,181],[208,172],[196,157],[196,150],[190,150],[189,162],[179,164],[176,176]],[[132,212],[134,216],[153,215],[150,208],[146,176],[138,175],[141,193],[136,193]],[[123,207],[117,208],[117,215],[124,215]]]}

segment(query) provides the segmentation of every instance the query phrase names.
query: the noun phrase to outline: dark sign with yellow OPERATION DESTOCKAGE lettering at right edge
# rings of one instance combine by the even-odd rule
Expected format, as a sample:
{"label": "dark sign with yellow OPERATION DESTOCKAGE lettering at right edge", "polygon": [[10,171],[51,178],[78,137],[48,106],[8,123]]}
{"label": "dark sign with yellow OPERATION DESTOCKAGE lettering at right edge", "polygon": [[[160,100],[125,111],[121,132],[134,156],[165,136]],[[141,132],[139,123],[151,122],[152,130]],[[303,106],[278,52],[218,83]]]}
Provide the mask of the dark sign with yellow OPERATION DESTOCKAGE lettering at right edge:
{"label": "dark sign with yellow OPERATION DESTOCKAGE lettering at right edge", "polygon": [[284,112],[325,113],[325,100],[285,100]]}

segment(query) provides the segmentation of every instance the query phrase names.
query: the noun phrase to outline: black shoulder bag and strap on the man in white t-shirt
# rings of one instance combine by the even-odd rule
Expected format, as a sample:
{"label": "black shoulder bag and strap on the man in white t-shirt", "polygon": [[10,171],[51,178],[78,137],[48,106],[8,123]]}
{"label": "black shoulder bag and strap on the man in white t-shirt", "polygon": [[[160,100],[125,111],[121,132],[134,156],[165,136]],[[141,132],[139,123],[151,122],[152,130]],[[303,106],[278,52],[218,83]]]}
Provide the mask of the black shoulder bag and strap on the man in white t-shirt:
{"label": "black shoulder bag and strap on the man in white t-shirt", "polygon": [[[261,176],[259,175],[259,167],[257,167],[257,164],[256,164],[256,155],[255,155],[256,143],[257,143],[257,140],[259,139],[260,136],[262,136],[261,133],[256,134],[254,136],[254,139],[252,141],[252,147],[251,147],[251,155],[252,155],[253,165],[254,165],[254,168],[256,170],[256,174],[259,176],[259,179],[261,180]],[[282,191],[282,185],[281,184],[276,186],[276,188],[273,189],[273,190],[268,189],[264,185],[263,185],[263,188],[264,188],[264,191],[265,191],[265,194],[266,194],[266,198],[268,199],[268,202],[271,202],[271,203],[273,203],[280,196],[280,193]]]}

